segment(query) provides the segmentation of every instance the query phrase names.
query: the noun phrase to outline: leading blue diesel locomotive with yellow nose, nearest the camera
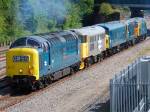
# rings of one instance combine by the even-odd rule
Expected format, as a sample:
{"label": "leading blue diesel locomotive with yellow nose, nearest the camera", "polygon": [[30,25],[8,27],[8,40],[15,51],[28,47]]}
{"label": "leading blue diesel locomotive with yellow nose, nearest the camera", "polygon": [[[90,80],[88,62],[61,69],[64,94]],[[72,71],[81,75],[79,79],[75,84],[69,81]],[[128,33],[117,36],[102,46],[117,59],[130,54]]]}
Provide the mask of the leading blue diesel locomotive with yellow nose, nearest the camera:
{"label": "leading blue diesel locomotive with yellow nose, nearest the camera", "polygon": [[79,69],[79,47],[80,40],[71,31],[20,38],[6,55],[8,77],[14,85],[42,88]]}

